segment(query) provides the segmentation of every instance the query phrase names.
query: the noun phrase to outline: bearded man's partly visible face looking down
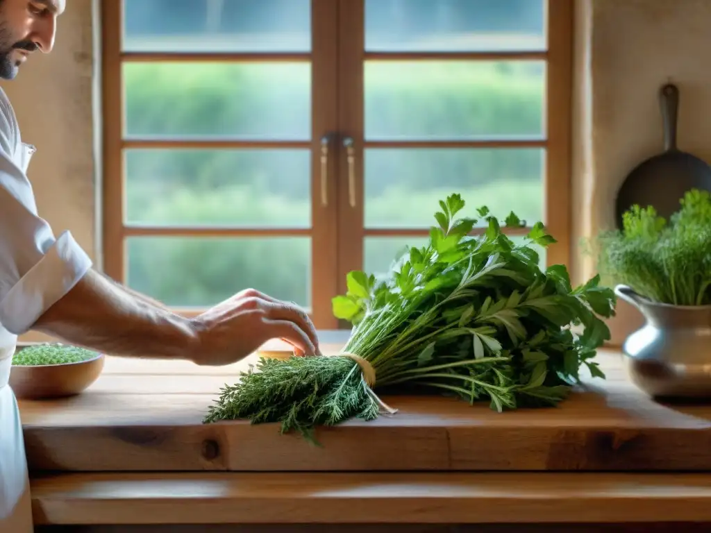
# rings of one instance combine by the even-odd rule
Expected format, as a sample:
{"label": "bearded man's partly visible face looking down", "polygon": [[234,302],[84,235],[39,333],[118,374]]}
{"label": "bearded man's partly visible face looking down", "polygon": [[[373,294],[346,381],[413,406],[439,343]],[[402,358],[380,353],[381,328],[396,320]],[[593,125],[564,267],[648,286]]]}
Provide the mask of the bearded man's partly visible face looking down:
{"label": "bearded man's partly visible face looking down", "polygon": [[0,0],[0,78],[12,80],[35,50],[50,53],[65,0]]}

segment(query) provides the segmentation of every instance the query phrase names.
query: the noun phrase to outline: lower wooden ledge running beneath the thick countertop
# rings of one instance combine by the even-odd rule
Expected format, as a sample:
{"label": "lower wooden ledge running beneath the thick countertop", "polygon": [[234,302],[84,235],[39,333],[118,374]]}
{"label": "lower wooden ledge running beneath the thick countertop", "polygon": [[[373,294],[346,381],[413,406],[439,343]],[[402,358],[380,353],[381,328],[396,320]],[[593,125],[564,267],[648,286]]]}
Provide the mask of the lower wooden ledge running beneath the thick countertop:
{"label": "lower wooden ledge running beneath the thick countertop", "polygon": [[38,525],[711,520],[710,475],[68,474],[31,492]]}

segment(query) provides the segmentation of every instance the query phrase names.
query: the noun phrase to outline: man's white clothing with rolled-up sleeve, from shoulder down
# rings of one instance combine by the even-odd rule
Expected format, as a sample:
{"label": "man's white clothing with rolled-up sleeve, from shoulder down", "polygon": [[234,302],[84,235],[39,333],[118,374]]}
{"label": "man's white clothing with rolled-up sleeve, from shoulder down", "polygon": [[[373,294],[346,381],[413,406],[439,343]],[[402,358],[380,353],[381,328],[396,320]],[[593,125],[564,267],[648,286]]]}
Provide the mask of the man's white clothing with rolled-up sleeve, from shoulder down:
{"label": "man's white clothing with rolled-up sleeve, from shoulder down", "polygon": [[64,296],[92,262],[70,232],[55,238],[37,214],[26,171],[34,146],[0,89],[0,532],[32,533],[22,426],[8,385],[17,335]]}

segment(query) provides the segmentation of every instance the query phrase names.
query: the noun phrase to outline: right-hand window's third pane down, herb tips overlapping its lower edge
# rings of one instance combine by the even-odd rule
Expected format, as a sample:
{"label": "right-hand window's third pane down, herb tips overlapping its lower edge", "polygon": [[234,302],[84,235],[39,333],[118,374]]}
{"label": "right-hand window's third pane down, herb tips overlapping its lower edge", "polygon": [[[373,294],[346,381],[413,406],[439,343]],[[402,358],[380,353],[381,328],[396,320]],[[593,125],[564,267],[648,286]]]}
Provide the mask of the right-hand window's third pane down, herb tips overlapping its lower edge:
{"label": "right-hand window's third pane down, herb tips overlapping its lower edge", "polygon": [[545,222],[544,165],[544,149],[365,149],[365,226],[430,227],[451,193],[461,216],[486,205],[502,221]]}

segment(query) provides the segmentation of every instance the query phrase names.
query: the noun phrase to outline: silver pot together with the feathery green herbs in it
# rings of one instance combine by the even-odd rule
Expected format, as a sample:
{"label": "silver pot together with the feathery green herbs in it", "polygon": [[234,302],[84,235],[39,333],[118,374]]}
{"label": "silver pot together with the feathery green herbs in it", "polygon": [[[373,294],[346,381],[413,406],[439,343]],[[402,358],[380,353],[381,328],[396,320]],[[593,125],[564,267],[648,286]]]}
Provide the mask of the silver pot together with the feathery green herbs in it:
{"label": "silver pot together with the feathery green herbs in it", "polygon": [[635,205],[597,237],[598,269],[646,323],[623,344],[631,380],[656,397],[711,397],[711,194],[669,220]]}

